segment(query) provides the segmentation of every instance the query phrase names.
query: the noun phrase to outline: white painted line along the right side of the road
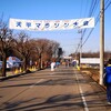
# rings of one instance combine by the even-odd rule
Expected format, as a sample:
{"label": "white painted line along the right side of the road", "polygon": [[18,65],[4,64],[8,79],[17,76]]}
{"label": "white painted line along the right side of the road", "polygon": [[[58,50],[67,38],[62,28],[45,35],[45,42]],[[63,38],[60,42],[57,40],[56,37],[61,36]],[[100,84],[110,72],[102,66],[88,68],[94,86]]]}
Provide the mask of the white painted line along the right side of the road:
{"label": "white painted line along the right side of the road", "polygon": [[80,94],[81,94],[81,98],[82,98],[82,102],[83,102],[83,105],[84,105],[84,111],[89,111],[88,104],[87,104],[85,98],[84,98],[84,95],[83,95],[82,88],[81,88],[81,85],[79,84],[79,79],[78,79],[78,75],[77,75],[77,74],[75,74],[75,78],[77,78],[77,82],[78,82],[78,85],[79,85],[79,90],[80,90]]}

